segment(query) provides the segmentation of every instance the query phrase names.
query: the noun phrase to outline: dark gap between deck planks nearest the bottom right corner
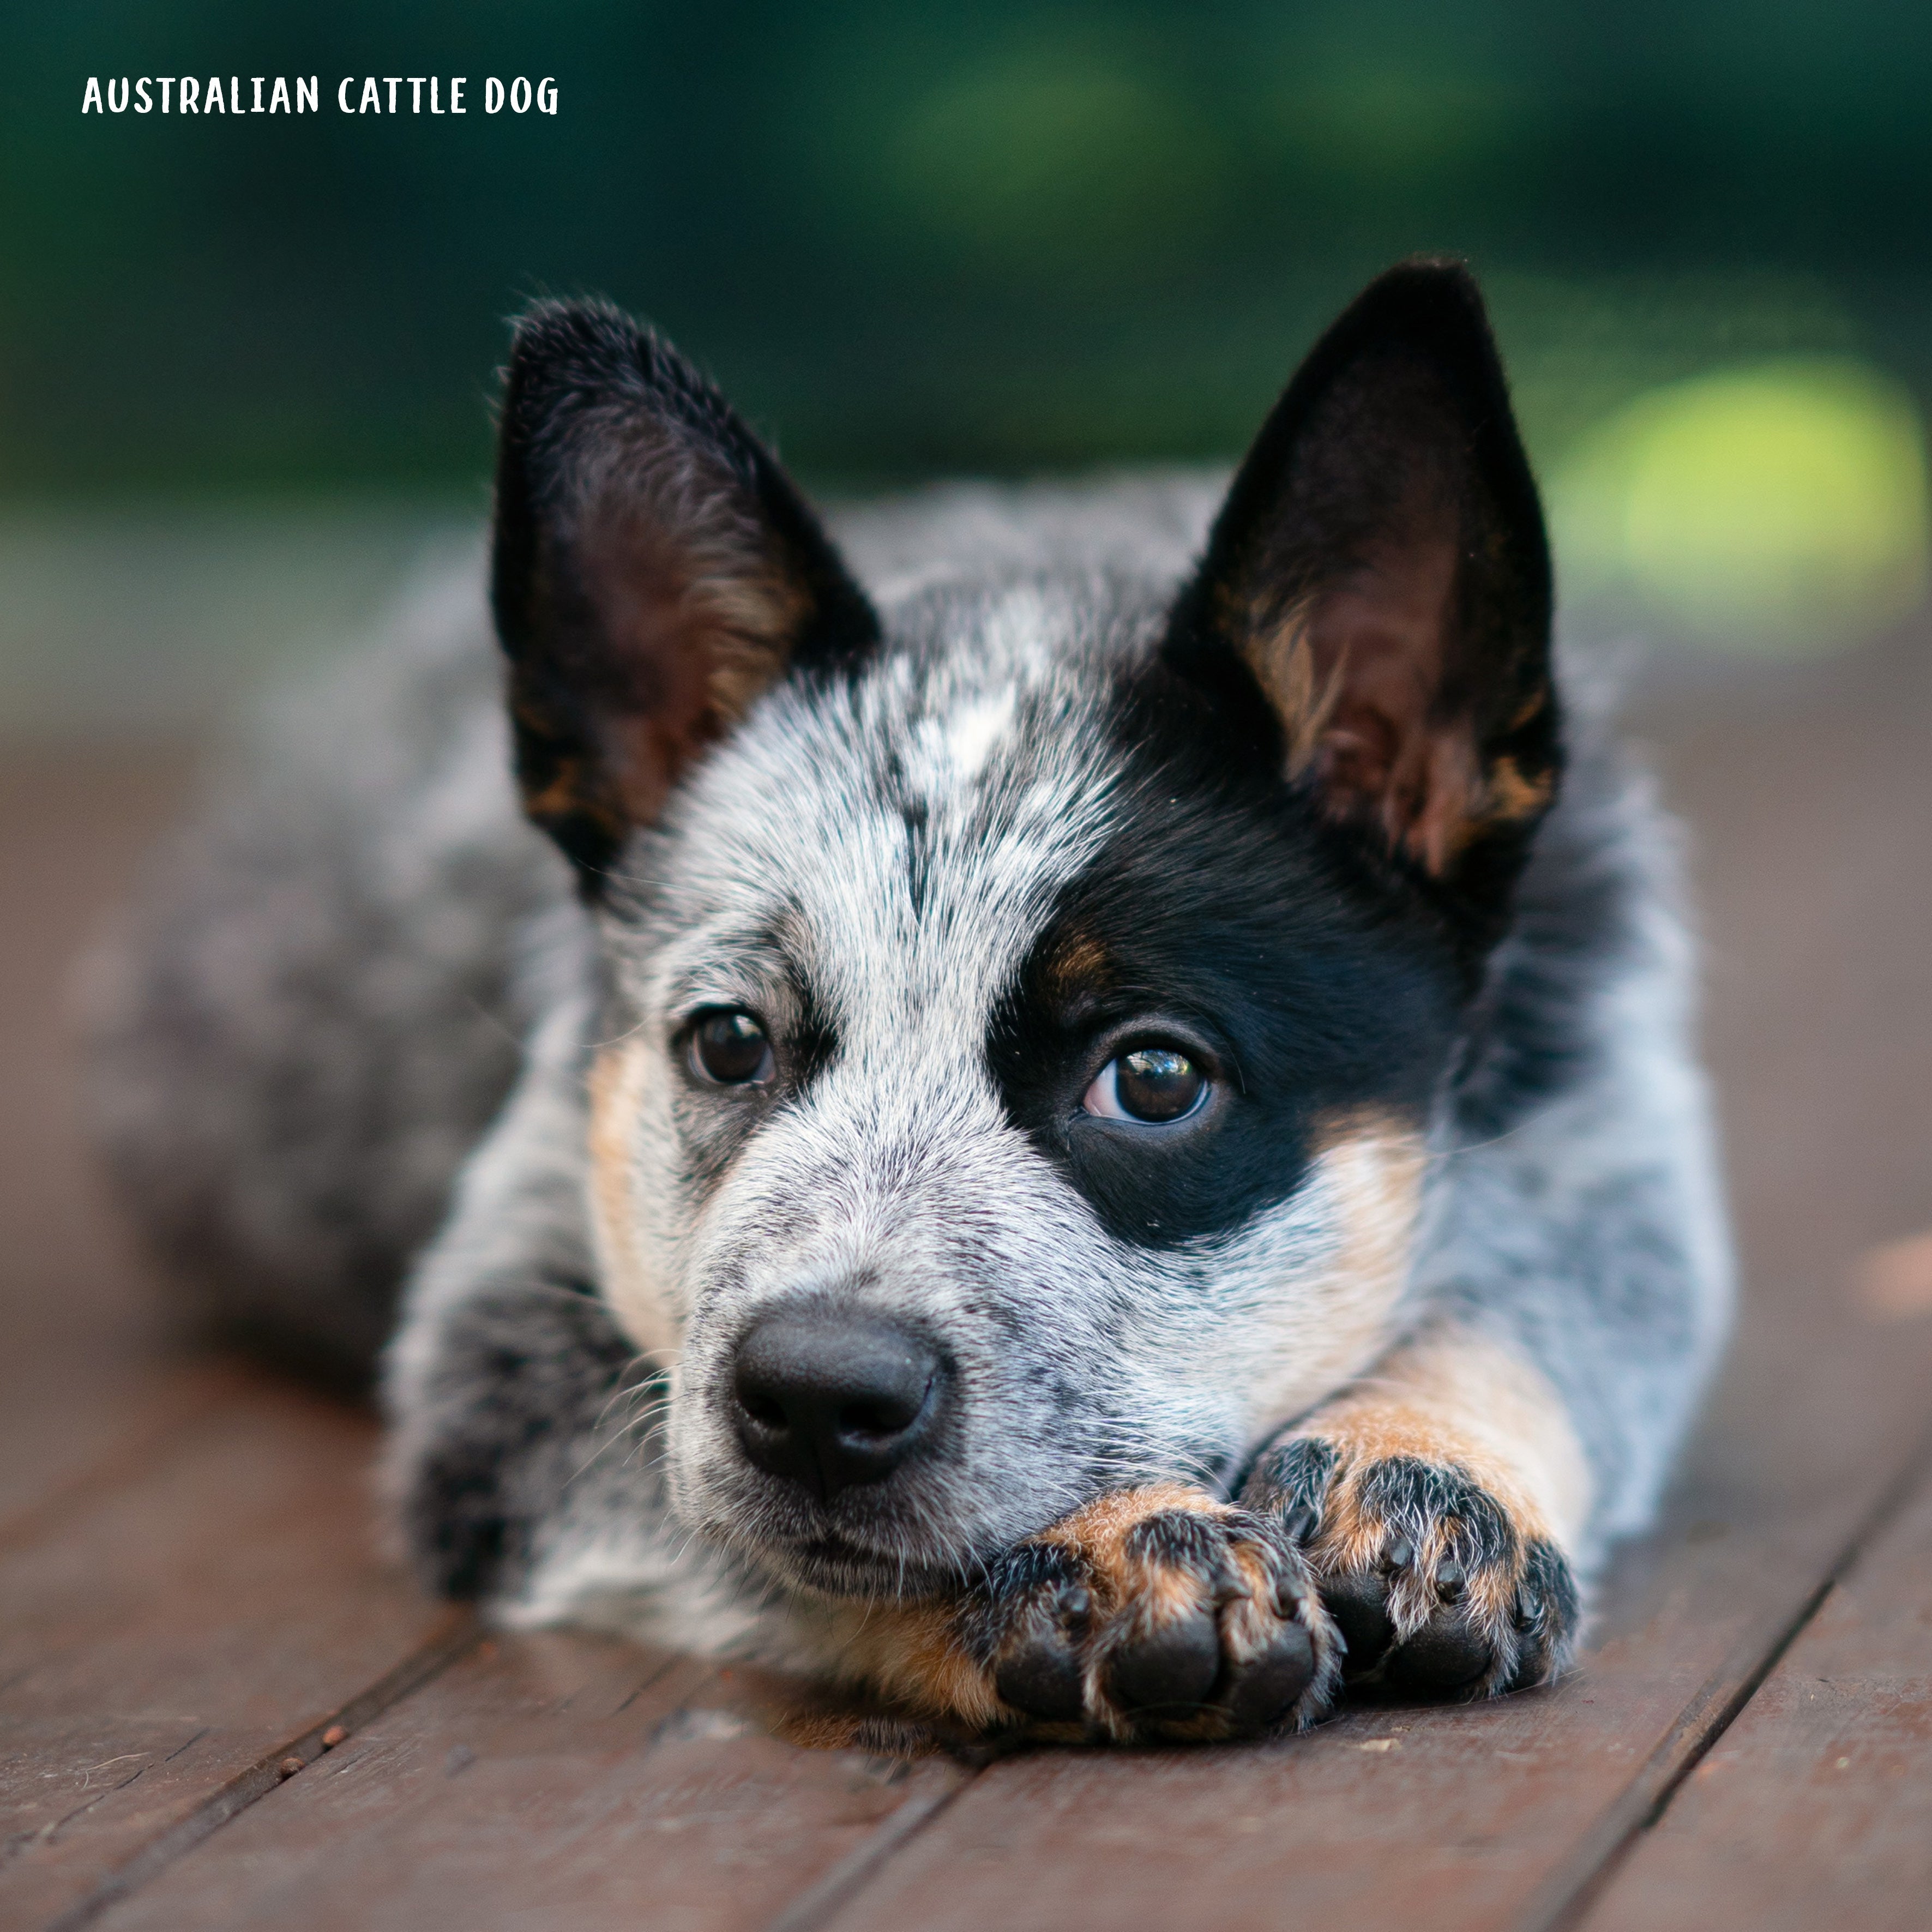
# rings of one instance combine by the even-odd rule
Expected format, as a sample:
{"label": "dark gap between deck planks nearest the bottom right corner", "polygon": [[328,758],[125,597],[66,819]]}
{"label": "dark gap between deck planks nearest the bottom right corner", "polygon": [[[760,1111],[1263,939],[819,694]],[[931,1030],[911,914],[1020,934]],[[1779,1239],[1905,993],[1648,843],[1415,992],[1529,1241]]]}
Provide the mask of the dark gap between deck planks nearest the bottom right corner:
{"label": "dark gap between deck planks nearest the bottom right corner", "polygon": [[1745,1714],[1785,1652],[1804,1634],[1832,1592],[1845,1580],[1859,1557],[1905,1509],[1932,1466],[1932,1426],[1928,1426],[1897,1472],[1845,1538],[1818,1586],[1772,1633],[1750,1638],[1712,1673],[1656,1750],[1644,1760],[1623,1795],[1598,1820],[1577,1851],[1538,1888],[1517,1920],[1515,1932],[1578,1932],[1604,1897],[1625,1859],[1646,1832],[1658,1826],[1671,1799],[1698,1768],[1712,1747]]}

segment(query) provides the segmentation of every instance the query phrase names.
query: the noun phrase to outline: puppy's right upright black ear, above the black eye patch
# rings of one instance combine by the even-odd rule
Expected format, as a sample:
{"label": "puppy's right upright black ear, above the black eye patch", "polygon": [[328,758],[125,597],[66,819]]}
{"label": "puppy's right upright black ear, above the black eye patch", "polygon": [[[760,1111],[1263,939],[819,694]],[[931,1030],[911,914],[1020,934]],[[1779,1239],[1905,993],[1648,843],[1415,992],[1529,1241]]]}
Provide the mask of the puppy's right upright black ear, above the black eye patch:
{"label": "puppy's right upright black ear, above the black eye patch", "polygon": [[1391,269],[1321,338],[1167,657],[1250,711],[1260,684],[1285,773],[1493,931],[1561,736],[1542,508],[1466,269]]}

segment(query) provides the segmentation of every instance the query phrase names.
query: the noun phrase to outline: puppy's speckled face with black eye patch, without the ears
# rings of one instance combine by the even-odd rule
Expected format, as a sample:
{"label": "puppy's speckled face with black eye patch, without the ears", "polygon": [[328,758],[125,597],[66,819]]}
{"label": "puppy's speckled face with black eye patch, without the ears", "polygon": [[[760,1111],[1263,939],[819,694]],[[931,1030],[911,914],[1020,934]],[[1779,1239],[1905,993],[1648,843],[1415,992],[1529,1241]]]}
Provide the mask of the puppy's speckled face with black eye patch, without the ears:
{"label": "puppy's speckled face with black eye patch, without the ears", "polygon": [[676,1362],[682,1515],[794,1580],[1213,1482],[1401,1289],[1449,962],[1192,750],[1155,614],[1082,653],[1039,589],[927,599],[773,696],[611,895],[607,1293]]}

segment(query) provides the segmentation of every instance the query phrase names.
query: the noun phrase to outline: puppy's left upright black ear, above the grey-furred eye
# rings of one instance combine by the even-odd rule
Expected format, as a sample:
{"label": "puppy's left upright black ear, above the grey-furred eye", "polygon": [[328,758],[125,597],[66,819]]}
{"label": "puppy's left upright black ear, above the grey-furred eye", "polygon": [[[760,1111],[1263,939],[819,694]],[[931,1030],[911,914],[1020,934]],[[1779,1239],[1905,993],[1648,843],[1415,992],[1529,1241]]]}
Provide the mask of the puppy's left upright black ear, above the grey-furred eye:
{"label": "puppy's left upright black ear, above the grey-furred eye", "polygon": [[593,895],[759,692],[877,639],[771,452],[676,350],[603,303],[545,303],[518,325],[493,595],[524,810]]}

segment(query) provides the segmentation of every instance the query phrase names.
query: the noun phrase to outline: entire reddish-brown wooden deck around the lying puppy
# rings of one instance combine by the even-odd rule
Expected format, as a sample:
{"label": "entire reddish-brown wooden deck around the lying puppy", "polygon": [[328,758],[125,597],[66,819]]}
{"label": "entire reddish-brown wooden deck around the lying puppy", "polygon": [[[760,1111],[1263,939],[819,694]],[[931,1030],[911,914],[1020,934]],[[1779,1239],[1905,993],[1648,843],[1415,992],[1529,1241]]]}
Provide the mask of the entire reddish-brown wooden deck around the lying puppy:
{"label": "entire reddish-brown wooden deck around the lying puppy", "polygon": [[0,765],[0,1924],[1924,1926],[1932,1242],[1888,1244],[1932,1229],[1932,643],[1646,724],[1745,1316],[1582,1667],[983,1768],[796,1748],[757,1673],[448,1617],[381,1553],[363,1416],[170,1349],[52,1014],[180,765]]}

